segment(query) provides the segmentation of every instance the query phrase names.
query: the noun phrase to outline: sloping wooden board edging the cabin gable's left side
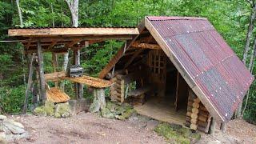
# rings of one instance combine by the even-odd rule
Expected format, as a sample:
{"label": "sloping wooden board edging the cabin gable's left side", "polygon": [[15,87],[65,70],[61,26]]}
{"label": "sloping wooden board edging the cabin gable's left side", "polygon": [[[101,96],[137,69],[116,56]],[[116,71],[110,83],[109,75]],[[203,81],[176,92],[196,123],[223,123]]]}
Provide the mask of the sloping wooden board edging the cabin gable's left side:
{"label": "sloping wooden board edging the cabin gable's left side", "polygon": [[[143,30],[145,30],[144,20],[138,26],[139,33],[141,33]],[[118,60],[122,58],[122,54],[124,54],[125,49],[129,49],[130,45],[136,40],[136,38],[138,38],[138,35],[134,36],[132,40],[129,40],[122,45],[121,49],[118,50],[118,53],[113,58],[111,58],[110,62],[99,73],[98,78],[104,78],[105,75],[110,72]]]}

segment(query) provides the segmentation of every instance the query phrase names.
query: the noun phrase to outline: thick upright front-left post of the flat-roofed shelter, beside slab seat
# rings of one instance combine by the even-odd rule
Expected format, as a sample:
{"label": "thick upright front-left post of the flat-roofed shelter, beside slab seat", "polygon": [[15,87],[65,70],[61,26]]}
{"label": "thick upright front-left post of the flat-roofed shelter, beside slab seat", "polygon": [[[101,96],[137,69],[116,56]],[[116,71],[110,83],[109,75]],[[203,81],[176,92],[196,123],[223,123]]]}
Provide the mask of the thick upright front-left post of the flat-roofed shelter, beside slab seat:
{"label": "thick upright front-left post of the flat-roofed shelter, beside slab seat", "polygon": [[42,46],[41,42],[38,41],[38,72],[39,72],[39,79],[40,79],[40,90],[41,90],[41,98],[42,104],[46,102],[46,86],[45,86],[45,74],[43,70],[43,55],[42,55]]}

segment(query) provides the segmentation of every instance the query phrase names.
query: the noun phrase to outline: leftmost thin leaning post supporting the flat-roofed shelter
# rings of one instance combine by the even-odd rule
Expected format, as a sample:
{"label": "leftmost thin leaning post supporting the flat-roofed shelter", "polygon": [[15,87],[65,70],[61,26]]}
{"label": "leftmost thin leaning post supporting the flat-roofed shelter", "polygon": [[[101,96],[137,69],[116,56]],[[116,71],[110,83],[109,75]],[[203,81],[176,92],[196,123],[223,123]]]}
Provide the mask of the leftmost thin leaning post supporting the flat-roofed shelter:
{"label": "leftmost thin leaning post supporting the flat-roofed shelter", "polygon": [[25,96],[25,100],[24,100],[24,106],[23,106],[23,114],[26,114],[26,105],[27,105],[27,100],[29,98],[29,91],[31,88],[31,84],[32,84],[32,77],[33,77],[33,61],[34,61],[34,53],[32,54],[31,58],[30,58],[30,72],[29,72],[29,78],[27,80],[27,86],[26,86],[26,96]]}

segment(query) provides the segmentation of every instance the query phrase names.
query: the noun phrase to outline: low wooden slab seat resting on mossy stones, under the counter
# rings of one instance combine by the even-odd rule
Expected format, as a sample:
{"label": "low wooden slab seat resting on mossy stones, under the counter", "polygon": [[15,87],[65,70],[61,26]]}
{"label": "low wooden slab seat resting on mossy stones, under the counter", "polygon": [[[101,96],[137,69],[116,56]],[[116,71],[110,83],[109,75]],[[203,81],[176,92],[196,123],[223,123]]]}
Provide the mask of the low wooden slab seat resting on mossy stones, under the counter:
{"label": "low wooden slab seat resting on mossy stones, under the counter", "polygon": [[56,87],[50,88],[50,90],[46,91],[47,100],[51,102],[67,102],[70,100],[70,97],[64,93],[62,90],[59,90]]}

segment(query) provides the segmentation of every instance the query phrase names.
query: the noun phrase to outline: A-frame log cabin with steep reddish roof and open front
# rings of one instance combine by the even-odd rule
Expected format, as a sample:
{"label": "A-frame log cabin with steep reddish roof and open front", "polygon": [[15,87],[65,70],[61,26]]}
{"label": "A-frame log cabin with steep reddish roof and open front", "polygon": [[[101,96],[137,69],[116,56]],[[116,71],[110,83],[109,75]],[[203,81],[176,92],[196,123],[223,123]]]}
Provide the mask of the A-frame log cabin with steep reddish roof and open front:
{"label": "A-frame log cabin with steep reddish roof and open front", "polygon": [[[138,113],[209,132],[225,123],[254,77],[206,18],[146,17],[99,78]],[[139,105],[138,105],[139,104]]]}

